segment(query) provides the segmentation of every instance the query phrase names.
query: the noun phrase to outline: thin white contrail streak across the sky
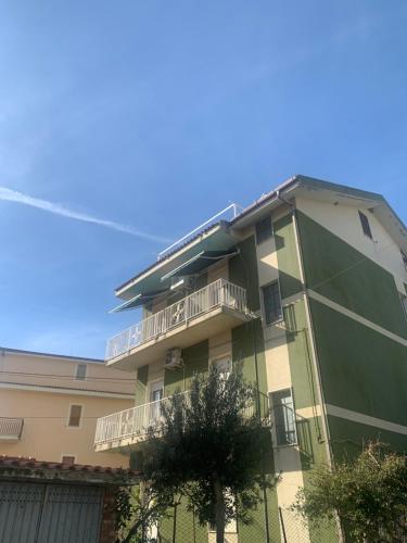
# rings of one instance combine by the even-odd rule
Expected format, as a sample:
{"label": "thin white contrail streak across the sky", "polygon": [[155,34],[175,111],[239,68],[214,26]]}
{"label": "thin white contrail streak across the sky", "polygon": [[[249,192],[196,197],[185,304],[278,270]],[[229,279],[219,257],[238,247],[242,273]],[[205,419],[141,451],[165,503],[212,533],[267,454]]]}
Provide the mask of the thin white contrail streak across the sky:
{"label": "thin white contrail streak across the sky", "polygon": [[85,223],[92,223],[94,225],[104,226],[106,228],[111,228],[112,230],[130,233],[131,236],[143,238],[150,241],[155,241],[157,243],[168,243],[171,241],[166,238],[161,238],[160,236],[143,232],[141,230],[138,230],[137,228],[133,228],[132,226],[115,223],[114,220],[105,220],[103,218],[93,217],[92,215],[88,215],[87,213],[73,211],[64,207],[61,204],[49,202],[48,200],[41,200],[39,198],[33,198],[28,194],[24,194],[23,192],[8,189],[7,187],[0,187],[0,200],[29,205],[30,207],[37,207],[37,210],[48,211],[49,213],[53,213],[54,215],[60,215],[61,217],[74,218],[75,220],[82,220]]}

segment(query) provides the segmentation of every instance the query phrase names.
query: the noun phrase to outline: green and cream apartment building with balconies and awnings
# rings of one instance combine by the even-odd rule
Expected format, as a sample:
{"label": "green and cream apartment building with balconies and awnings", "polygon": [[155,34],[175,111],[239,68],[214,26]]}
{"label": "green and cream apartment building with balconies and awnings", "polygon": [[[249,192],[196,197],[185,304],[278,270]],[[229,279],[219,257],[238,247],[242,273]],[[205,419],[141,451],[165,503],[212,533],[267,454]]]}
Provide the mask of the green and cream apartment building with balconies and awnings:
{"label": "green and cream apartment building with balconies and awnings", "polygon": [[[378,437],[407,450],[407,230],[380,194],[301,175],[234,215],[116,290],[117,311],[143,310],[106,350],[109,366],[138,371],[135,407],[99,419],[96,450],[136,463],[163,399],[239,361],[265,399],[281,480],[228,542],[340,541],[334,523],[305,526],[289,508],[320,463]],[[214,541],[182,507],[160,530]]]}

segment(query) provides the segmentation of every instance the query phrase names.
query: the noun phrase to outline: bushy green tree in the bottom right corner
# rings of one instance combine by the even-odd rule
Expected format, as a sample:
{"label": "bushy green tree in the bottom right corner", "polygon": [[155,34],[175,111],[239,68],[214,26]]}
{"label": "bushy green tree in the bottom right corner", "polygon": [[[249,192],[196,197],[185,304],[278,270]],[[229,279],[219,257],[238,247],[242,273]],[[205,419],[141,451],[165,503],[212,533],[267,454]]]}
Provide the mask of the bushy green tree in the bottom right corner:
{"label": "bushy green tree in the bottom right corner", "polygon": [[294,509],[309,520],[333,519],[361,542],[405,541],[407,456],[369,443],[352,463],[316,468],[311,487],[302,489]]}

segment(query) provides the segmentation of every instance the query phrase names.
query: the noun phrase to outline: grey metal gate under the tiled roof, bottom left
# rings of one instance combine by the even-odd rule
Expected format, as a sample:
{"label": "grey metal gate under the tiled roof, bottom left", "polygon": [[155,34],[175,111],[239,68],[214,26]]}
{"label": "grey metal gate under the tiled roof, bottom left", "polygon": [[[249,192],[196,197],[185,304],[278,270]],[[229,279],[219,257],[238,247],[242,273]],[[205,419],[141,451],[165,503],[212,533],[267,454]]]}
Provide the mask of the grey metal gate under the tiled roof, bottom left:
{"label": "grey metal gate under the tiled roof, bottom left", "polygon": [[104,489],[0,482],[0,543],[97,543]]}

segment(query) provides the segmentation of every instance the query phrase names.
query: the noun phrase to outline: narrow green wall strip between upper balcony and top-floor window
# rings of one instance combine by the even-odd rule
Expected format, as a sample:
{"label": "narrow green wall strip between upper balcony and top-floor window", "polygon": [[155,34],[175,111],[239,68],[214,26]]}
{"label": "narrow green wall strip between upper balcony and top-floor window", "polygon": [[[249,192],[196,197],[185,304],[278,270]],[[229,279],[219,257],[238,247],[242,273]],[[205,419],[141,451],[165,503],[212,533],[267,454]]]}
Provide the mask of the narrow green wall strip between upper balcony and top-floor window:
{"label": "narrow green wall strip between upper balcony and top-floor window", "polygon": [[229,260],[229,281],[247,291],[247,305],[251,311],[260,308],[256,243],[254,236],[237,244],[240,254]]}

